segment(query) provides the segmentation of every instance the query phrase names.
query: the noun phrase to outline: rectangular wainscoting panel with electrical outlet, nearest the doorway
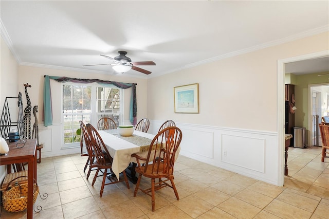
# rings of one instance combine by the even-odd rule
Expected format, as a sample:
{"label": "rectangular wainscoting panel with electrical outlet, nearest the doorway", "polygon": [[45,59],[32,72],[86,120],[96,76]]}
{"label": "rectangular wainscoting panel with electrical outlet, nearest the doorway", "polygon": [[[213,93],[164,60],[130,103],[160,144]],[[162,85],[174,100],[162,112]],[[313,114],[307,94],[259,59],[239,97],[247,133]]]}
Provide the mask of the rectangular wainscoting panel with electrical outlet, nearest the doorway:
{"label": "rectangular wainscoting panel with electrical outlet, nearest the doorway", "polygon": [[265,139],[222,135],[222,161],[264,173]]}

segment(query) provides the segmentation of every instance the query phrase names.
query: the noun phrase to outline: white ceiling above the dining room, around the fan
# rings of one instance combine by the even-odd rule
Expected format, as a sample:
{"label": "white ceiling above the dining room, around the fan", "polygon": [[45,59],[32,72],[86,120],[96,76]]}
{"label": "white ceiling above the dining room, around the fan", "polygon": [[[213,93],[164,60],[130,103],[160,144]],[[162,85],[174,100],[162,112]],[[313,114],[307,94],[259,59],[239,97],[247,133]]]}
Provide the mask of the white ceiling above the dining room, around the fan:
{"label": "white ceiling above the dining room, around the fan", "polygon": [[[328,31],[328,1],[0,1],[1,34],[21,65],[113,74],[126,50],[156,77]],[[329,49],[329,48],[328,48]],[[291,63],[294,74],[319,64]],[[320,61],[319,61],[320,62]],[[300,65],[301,64],[301,65]],[[302,66],[303,65],[303,66]],[[307,69],[313,66],[312,69]],[[287,72],[287,71],[286,71]]]}

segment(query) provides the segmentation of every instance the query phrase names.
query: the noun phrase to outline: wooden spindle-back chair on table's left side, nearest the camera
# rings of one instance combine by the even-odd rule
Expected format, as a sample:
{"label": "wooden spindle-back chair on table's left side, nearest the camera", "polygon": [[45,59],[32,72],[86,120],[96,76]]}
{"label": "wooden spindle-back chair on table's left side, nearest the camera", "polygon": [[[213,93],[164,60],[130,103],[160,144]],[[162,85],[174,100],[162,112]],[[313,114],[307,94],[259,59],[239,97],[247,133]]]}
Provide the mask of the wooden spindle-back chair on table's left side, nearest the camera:
{"label": "wooden spindle-back chair on table's left side, nearest the camera", "polygon": [[[87,130],[90,136],[90,144],[92,145],[95,153],[96,161],[90,165],[90,168],[97,168],[95,177],[93,179],[92,186],[94,186],[96,178],[98,176],[103,176],[102,180],[102,186],[99,196],[102,197],[104,186],[110,185],[110,184],[116,184],[117,182],[125,181],[125,184],[127,185],[127,188],[130,189],[129,182],[127,179],[127,176],[125,174],[125,171],[122,171],[123,178],[121,177],[120,180],[117,179],[117,177],[107,177],[107,174],[112,173],[112,161],[113,158],[108,153],[108,150],[106,148],[106,145],[103,142],[103,139],[95,129],[95,127],[92,124],[87,124]],[[103,170],[103,171],[101,171]],[[110,172],[107,172],[107,171]],[[98,175],[99,171],[103,173],[103,175]],[[105,179],[109,179],[110,182],[105,183]],[[119,177],[120,178],[120,177]]]}

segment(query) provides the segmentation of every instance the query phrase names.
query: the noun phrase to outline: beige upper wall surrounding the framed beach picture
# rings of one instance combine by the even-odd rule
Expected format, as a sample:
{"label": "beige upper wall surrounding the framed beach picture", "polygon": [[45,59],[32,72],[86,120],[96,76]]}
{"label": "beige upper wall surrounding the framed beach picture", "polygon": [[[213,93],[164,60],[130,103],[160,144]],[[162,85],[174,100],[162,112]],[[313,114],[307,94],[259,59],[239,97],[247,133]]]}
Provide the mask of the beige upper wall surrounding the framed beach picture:
{"label": "beige upper wall surrounding the framed beach picture", "polygon": [[[325,32],[152,78],[148,117],[277,132],[278,60],[327,49]],[[191,83],[199,83],[200,113],[175,114],[173,87]]]}

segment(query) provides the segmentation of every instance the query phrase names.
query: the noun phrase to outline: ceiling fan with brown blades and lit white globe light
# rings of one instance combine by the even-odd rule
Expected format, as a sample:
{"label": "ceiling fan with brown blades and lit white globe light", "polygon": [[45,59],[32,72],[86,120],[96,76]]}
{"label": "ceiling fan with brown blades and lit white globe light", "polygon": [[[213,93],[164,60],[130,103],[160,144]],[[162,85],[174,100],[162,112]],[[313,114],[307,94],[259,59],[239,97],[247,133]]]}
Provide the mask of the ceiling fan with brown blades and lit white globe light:
{"label": "ceiling fan with brown blades and lit white globe light", "polygon": [[[96,64],[96,65],[112,65],[112,68],[120,73],[124,73],[129,71],[130,69],[133,69],[135,71],[142,72],[143,74],[150,75],[152,72],[145,70],[143,68],[137,67],[136,65],[155,65],[155,62],[153,61],[143,61],[143,62],[132,62],[132,60],[129,57],[126,57],[127,54],[126,51],[118,51],[119,56],[111,58],[108,56],[105,56],[101,54],[100,56],[105,57],[106,59],[109,59],[113,61],[112,64]],[[83,66],[94,66],[94,65],[83,65]]]}

